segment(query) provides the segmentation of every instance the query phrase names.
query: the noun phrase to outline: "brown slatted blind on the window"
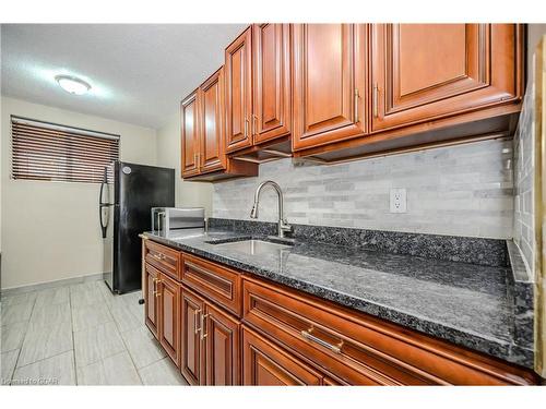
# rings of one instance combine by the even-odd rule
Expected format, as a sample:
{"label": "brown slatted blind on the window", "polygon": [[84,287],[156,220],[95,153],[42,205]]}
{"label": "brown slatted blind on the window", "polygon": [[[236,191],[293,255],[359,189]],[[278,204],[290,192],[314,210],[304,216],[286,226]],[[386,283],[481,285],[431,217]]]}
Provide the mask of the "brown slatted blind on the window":
{"label": "brown slatted blind on the window", "polygon": [[12,177],[100,183],[119,135],[11,117]]}

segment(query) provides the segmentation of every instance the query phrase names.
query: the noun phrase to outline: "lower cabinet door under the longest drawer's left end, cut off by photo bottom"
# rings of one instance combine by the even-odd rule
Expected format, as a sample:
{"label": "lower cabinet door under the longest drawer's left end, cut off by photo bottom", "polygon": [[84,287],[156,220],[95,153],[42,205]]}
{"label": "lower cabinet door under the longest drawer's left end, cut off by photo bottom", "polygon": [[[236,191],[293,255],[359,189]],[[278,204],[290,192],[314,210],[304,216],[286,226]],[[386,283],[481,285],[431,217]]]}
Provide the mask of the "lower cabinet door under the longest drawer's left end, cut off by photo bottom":
{"label": "lower cabinet door under the longest drawer's left end, cut off by photo bottom", "polygon": [[321,385],[322,376],[288,352],[242,328],[244,385]]}

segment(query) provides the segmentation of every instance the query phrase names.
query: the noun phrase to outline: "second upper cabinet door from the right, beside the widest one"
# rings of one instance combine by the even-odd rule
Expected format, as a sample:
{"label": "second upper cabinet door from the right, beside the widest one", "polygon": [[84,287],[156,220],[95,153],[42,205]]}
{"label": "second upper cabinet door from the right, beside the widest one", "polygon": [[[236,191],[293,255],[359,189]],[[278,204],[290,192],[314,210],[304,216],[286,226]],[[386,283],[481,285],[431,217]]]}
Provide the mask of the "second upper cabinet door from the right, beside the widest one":
{"label": "second upper cabinet door from the right, beside the widest one", "polygon": [[366,131],[367,25],[295,24],[295,151]]}

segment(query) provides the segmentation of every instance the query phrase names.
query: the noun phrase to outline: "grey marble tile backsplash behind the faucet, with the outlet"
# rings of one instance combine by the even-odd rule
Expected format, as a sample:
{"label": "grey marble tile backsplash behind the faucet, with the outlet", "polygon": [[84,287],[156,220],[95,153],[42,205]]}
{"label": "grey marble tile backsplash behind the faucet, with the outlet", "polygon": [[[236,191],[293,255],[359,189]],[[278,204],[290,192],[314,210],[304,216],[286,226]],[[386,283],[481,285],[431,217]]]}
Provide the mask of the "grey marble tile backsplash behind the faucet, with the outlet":
{"label": "grey marble tile backsplash behind the faucet, with the outlet", "polygon": [[[512,141],[320,166],[290,158],[260,165],[257,178],[214,184],[213,216],[250,219],[264,180],[285,196],[288,222],[505,239],[512,237]],[[406,213],[390,213],[390,190],[405,188]],[[259,219],[274,221],[276,195],[262,192]]]}

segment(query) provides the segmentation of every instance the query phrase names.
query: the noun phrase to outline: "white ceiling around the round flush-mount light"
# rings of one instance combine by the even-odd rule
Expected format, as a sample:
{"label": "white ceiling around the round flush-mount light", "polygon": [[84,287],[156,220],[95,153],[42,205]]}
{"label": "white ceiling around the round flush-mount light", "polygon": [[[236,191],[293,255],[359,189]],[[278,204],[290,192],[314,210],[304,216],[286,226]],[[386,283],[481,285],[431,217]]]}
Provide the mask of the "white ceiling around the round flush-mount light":
{"label": "white ceiling around the round flush-mount light", "polygon": [[[150,128],[216,71],[241,24],[2,24],[2,95]],[[74,96],[55,75],[92,84]]]}

